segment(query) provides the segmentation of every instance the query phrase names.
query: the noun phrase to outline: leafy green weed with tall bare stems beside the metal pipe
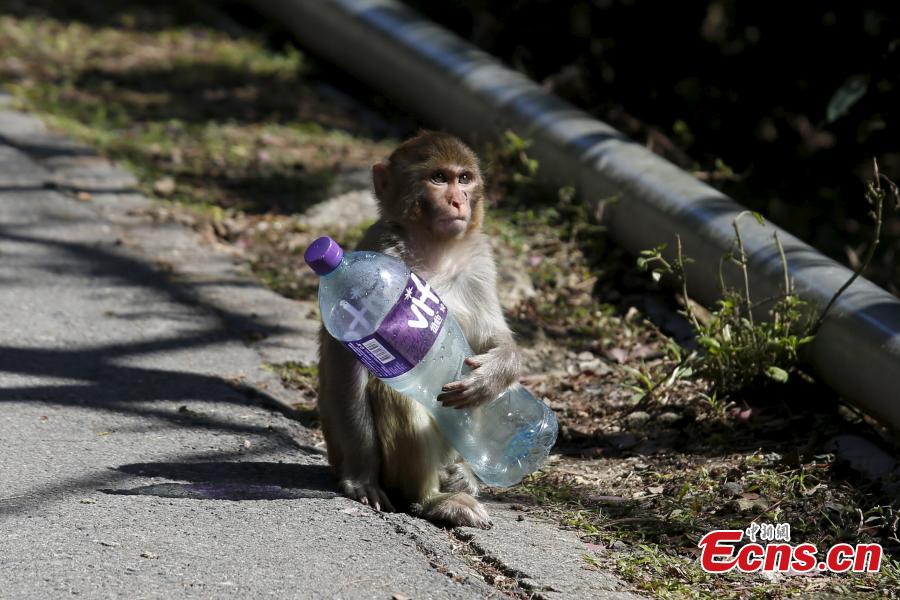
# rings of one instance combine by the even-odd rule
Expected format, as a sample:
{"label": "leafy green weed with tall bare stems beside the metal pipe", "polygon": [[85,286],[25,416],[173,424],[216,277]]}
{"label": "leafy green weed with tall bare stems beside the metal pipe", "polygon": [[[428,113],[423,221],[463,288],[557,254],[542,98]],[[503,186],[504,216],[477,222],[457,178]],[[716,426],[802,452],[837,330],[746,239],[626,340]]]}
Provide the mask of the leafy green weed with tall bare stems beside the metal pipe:
{"label": "leafy green weed with tall bare stems beside the metal pipe", "polygon": [[[882,185],[884,184],[884,185]],[[881,175],[875,165],[875,177],[866,188],[865,198],[872,207],[871,216],[875,223],[874,241],[859,268],[834,294],[818,317],[810,310],[808,303],[794,293],[788,272],[787,258],[778,233],[773,233],[773,243],[778,248],[784,272],[781,294],[774,298],[754,301],[750,293],[750,275],[747,269],[747,255],[741,237],[739,221],[752,215],[761,225],[764,220],[755,212],[745,211],[732,221],[735,241],[728,254],[719,263],[719,287],[722,297],[713,311],[701,313],[688,294],[685,265],[691,259],[682,253],[681,238],[676,236],[675,256],[663,256],[666,245],[657,246],[640,253],[638,267],[650,271],[655,281],[663,275],[673,277],[680,283],[684,298],[684,315],[696,332],[700,353],[690,354],[679,360],[676,371],[684,372],[688,367],[709,381],[714,394],[727,396],[738,390],[764,381],[784,383],[796,368],[802,346],[815,336],[828,311],[841,294],[856,280],[872,260],[881,237],[882,212],[888,198],[897,199],[897,186]],[[738,266],[742,276],[740,288],[729,287],[725,283],[724,265],[731,262]],[[768,318],[757,320],[763,305],[771,304]],[[656,387],[657,384],[653,384]]]}

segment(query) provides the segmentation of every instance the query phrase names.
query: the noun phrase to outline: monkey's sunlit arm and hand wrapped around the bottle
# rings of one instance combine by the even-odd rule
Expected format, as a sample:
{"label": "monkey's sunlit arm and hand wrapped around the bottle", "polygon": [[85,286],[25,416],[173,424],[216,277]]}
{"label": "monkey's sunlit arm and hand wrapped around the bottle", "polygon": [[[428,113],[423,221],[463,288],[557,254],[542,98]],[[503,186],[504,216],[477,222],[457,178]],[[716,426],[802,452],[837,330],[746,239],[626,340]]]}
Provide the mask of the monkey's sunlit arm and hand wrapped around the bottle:
{"label": "monkey's sunlit arm and hand wrapped around the bottle", "polygon": [[512,331],[503,318],[497,297],[496,274],[491,268],[471,280],[467,296],[475,308],[475,327],[469,343],[477,352],[466,359],[472,368],[468,377],[448,383],[438,395],[445,406],[471,408],[496,398],[519,377],[520,358]]}

